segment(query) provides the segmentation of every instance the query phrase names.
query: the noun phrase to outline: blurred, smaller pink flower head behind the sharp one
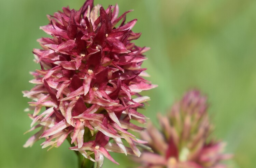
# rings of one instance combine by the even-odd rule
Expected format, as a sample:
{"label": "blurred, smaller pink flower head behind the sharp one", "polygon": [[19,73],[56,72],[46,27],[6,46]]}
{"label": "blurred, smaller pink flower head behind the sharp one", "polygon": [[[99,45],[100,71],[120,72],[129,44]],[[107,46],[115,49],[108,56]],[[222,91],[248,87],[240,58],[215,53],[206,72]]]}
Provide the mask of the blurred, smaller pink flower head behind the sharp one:
{"label": "blurred, smaller pink flower head behind the sharp one", "polygon": [[207,114],[207,98],[197,90],[185,94],[168,116],[159,115],[161,130],[148,124],[141,133],[153,152],[143,151],[140,168],[226,168],[221,164],[225,144],[209,139],[212,125]]}

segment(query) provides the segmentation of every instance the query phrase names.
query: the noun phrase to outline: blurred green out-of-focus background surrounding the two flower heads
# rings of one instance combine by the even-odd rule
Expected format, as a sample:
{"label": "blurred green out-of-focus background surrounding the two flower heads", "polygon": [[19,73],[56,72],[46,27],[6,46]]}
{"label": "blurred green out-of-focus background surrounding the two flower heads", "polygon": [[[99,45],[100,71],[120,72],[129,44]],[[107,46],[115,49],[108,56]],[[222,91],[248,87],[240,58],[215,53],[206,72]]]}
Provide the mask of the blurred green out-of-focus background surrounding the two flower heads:
{"label": "blurred green out-of-focus background surrounding the two flower heads", "polygon": [[[0,167],[77,167],[66,142],[49,152],[41,142],[23,148],[31,134],[31,120],[23,110],[29,99],[29,71],[36,39],[46,34],[46,14],[69,5],[79,9],[83,0],[6,0],[0,5]],[[142,32],[137,45],[151,47],[144,67],[159,87],[147,91],[150,106],[143,113],[156,123],[190,88],[209,96],[209,113],[216,125],[214,136],[227,142],[234,153],[234,168],[256,165],[256,1],[255,0],[95,0],[104,7],[119,4],[120,14],[134,9],[134,32]],[[130,166],[123,154],[111,154],[119,166],[104,161],[104,168]]]}

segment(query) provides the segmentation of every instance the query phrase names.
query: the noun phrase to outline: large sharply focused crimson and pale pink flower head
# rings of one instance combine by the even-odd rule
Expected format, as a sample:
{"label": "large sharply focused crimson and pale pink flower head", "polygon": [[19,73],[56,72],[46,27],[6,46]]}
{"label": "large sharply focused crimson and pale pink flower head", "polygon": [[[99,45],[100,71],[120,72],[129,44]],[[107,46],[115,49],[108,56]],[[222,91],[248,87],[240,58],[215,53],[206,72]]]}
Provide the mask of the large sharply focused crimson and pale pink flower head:
{"label": "large sharply focused crimson and pale pink flower head", "polygon": [[125,22],[131,11],[118,17],[118,5],[104,10],[93,3],[87,0],[78,11],[63,7],[40,27],[52,38],[38,39],[42,49],[33,53],[41,69],[31,73],[36,85],[23,93],[32,99],[31,127],[37,123],[28,132],[41,129],[24,147],[40,138],[42,148],[59,147],[70,137],[71,150],[99,164],[103,155],[116,163],[108,151],[140,156],[136,144],[143,141],[127,129],[143,130],[130,120],[145,123],[137,108],[149,97],[139,93],[156,85],[142,78],[148,76],[141,64],[149,48],[132,43],[141,33],[131,31],[136,19]]}

